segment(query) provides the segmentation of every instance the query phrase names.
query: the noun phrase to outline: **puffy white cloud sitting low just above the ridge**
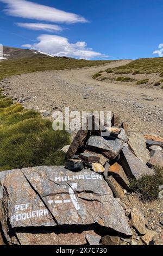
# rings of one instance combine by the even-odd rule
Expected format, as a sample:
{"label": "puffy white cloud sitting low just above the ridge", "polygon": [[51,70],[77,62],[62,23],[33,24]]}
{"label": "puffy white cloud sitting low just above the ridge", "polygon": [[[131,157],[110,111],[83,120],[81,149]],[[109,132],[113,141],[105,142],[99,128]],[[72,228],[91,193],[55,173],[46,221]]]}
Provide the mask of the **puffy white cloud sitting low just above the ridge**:
{"label": "puffy white cloud sitting low just above the ridge", "polygon": [[[40,35],[37,40],[39,42],[28,45],[33,50],[46,52],[54,56],[68,56],[73,58],[105,58],[105,54],[95,52],[91,48],[87,48],[86,42],[76,42],[71,44],[67,38],[58,35]],[[27,45],[23,45],[26,47]]]}

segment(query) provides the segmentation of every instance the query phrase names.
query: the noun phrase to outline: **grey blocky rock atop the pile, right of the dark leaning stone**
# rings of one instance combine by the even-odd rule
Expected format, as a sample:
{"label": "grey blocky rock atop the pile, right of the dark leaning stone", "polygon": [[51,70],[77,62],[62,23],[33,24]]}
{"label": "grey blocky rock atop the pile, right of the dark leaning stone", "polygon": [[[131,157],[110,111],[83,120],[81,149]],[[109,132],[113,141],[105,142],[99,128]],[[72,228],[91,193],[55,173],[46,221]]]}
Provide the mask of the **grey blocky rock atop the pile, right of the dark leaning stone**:
{"label": "grey blocky rock atop the pile, right of the dark leaning stone", "polygon": [[87,141],[87,148],[97,150],[108,157],[109,160],[115,159],[124,147],[120,139],[110,139],[106,137],[91,136]]}

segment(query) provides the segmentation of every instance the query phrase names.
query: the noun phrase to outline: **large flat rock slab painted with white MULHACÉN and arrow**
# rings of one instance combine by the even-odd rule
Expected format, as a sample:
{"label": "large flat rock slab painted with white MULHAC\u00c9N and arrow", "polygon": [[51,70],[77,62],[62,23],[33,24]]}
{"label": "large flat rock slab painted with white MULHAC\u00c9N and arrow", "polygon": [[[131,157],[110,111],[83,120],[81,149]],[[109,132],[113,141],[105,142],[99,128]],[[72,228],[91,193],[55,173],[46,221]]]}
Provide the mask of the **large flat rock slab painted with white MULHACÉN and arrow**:
{"label": "large flat rock slab painted with white MULHAC\u00c9N and arrow", "polygon": [[73,225],[85,227],[83,231],[89,231],[88,225],[90,230],[99,225],[131,235],[124,211],[107,182],[90,169],[78,173],[64,166],[16,169],[0,173],[0,184],[0,219],[10,244],[30,244],[33,239],[37,244],[43,232],[51,245],[52,233],[53,241],[61,241],[67,230],[63,227],[74,233]]}

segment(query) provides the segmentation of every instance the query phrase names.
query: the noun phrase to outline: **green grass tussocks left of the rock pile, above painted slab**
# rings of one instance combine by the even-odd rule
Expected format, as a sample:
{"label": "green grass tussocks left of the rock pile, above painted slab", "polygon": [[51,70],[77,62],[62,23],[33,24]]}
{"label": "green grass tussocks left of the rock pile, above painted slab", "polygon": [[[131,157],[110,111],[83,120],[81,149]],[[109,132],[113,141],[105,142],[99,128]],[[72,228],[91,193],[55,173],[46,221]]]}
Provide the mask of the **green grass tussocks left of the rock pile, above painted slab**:
{"label": "green grass tussocks left of the rock pile, above painted slab", "polygon": [[53,131],[52,122],[14,104],[0,93],[0,171],[42,165],[62,165],[60,151],[70,144],[66,131]]}

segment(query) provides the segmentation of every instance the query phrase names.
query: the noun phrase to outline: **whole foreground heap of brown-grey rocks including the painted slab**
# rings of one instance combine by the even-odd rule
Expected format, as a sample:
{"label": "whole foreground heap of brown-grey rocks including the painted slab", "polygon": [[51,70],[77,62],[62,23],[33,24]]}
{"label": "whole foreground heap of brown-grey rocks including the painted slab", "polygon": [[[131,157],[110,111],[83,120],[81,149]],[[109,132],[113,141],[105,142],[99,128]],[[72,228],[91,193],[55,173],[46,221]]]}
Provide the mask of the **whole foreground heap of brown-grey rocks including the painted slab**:
{"label": "whole foreground heap of brown-grey rocks including the painted slab", "polygon": [[[66,166],[0,173],[0,220],[9,245],[162,245],[160,216],[145,214],[130,181],[156,179],[163,138],[128,137],[114,114],[110,135],[80,130],[65,147]],[[67,151],[68,149],[68,151]],[[159,188],[158,188],[159,189]],[[155,207],[155,209],[156,209]],[[152,221],[151,221],[152,220]]]}

